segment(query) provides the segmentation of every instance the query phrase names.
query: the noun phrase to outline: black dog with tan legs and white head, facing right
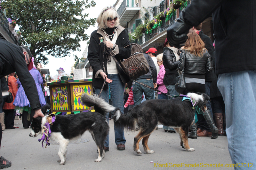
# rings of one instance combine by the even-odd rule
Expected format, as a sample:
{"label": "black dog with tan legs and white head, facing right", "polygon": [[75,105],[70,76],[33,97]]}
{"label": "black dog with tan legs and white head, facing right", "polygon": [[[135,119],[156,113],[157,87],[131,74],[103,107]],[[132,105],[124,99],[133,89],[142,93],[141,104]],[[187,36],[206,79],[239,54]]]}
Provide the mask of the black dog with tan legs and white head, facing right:
{"label": "black dog with tan legs and white head, facing right", "polygon": [[[188,93],[188,97],[197,101],[196,105],[203,112],[207,110],[205,104],[210,100],[209,96],[204,93]],[[195,119],[195,109],[189,100],[182,101],[183,97],[177,97],[171,100],[146,100],[140,105],[133,107],[125,115],[116,109],[114,121],[125,129],[136,129],[137,124],[140,132],[134,137],[133,149],[138,154],[142,152],[139,149],[139,142],[142,139],[142,145],[146,153],[154,153],[155,151],[148,148],[148,138],[156,128],[157,122],[165,126],[172,126],[177,133],[180,134],[180,145],[186,151],[195,151],[188,145],[189,126]]]}

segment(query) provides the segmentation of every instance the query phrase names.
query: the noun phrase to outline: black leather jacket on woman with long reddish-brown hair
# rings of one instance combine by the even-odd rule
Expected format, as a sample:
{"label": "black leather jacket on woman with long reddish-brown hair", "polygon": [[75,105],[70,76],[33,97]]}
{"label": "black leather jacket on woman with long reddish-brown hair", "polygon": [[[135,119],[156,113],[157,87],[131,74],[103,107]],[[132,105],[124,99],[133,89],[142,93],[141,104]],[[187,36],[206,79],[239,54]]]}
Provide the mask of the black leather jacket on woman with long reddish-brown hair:
{"label": "black leather jacket on woman with long reddish-brown hair", "polygon": [[[186,50],[181,50],[180,60],[179,60],[179,64],[178,64],[179,70],[182,70],[184,55],[186,55],[185,66],[184,66],[184,76],[185,77],[190,77],[190,76],[186,76],[185,74],[203,75],[203,77],[204,77],[205,73],[212,71],[212,68],[213,68],[212,60],[211,60],[211,56],[209,55],[207,50],[204,50],[204,55],[202,57],[197,57],[194,54],[190,54]],[[194,77],[194,76],[191,76],[191,77]],[[202,76],[195,77],[195,78],[202,78]]]}

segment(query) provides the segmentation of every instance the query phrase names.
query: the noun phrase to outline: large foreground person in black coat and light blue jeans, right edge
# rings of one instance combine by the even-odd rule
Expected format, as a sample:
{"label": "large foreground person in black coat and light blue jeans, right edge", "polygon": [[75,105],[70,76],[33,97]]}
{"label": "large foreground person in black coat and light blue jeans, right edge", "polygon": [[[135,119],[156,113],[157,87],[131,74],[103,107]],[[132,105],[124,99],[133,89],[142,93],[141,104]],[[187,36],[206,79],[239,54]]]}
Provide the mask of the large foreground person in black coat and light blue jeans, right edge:
{"label": "large foreground person in black coat and light blue jeans, right edge", "polygon": [[233,164],[249,165],[256,162],[256,1],[193,0],[167,29],[167,38],[183,43],[188,30],[211,15],[230,157]]}

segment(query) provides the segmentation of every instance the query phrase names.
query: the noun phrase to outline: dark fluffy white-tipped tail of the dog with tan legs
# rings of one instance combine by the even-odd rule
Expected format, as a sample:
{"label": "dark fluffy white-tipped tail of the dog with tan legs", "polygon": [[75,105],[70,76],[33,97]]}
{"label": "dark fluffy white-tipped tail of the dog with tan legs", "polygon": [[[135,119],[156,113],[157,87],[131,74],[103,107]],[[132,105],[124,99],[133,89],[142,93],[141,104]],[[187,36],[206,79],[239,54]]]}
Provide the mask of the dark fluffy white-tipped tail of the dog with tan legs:
{"label": "dark fluffy white-tipped tail of the dog with tan legs", "polygon": [[122,114],[120,109],[116,108],[114,121],[116,126],[126,130],[136,130],[137,128],[137,114],[133,113],[133,109],[126,114]]}

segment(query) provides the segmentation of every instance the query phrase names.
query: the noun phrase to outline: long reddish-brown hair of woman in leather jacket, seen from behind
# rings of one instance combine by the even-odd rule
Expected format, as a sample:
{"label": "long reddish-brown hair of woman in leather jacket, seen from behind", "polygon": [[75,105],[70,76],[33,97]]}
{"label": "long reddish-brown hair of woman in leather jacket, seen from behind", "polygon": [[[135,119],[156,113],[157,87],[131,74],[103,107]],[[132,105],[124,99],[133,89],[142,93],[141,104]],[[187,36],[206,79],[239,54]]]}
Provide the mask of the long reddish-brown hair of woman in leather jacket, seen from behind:
{"label": "long reddish-brown hair of woman in leather jacket, seen from behind", "polygon": [[188,40],[186,41],[185,47],[190,54],[194,54],[198,57],[202,57],[204,54],[204,41],[201,37],[195,33],[188,33]]}

